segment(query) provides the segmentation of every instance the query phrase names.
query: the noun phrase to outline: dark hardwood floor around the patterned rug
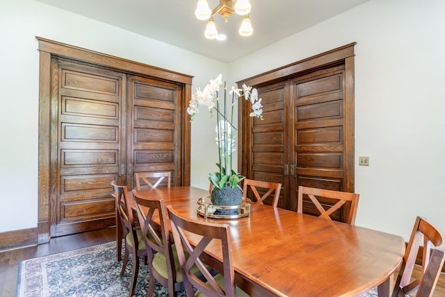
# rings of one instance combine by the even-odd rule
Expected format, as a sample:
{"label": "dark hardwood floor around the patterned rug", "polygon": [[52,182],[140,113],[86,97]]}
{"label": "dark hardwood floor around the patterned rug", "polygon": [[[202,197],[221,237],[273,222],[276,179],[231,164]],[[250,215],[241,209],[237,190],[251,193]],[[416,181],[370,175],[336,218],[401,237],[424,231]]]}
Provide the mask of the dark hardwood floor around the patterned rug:
{"label": "dark hardwood floor around the patterned rug", "polygon": [[[29,246],[10,251],[0,251],[0,296],[15,296],[19,262],[22,260],[72,251],[77,248],[94,246],[95,244],[104,244],[114,240],[115,228],[106,228],[75,235],[55,237],[51,239],[49,244],[40,244],[39,246]],[[433,296],[445,296],[445,273],[440,275]]]}

